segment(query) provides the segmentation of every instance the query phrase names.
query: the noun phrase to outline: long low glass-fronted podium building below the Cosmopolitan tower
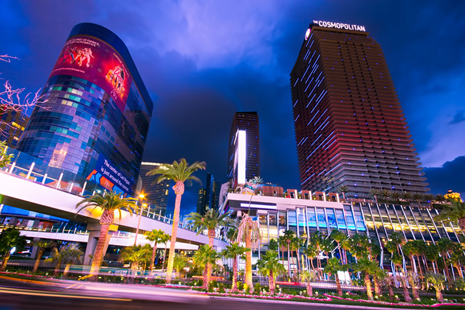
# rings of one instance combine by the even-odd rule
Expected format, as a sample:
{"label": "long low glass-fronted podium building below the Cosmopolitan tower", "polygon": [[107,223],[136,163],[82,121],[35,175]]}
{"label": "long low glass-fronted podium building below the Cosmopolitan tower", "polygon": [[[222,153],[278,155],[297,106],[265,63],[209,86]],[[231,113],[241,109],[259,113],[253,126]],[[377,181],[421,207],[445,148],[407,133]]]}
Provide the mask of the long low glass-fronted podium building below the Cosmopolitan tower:
{"label": "long low glass-fronted podium building below the Cosmopolitan tower", "polygon": [[[337,193],[321,191],[288,189],[282,195],[279,193],[283,193],[283,188],[258,186],[255,192],[228,193],[223,204],[225,210],[231,211],[232,217],[247,213],[257,221],[262,251],[270,239],[278,238],[287,230],[308,240],[316,231],[329,235],[337,229],[348,236],[366,234],[372,242],[380,244],[380,262],[384,269],[390,271],[393,267],[390,253],[383,246],[394,231],[404,236],[404,240],[424,240],[433,244],[440,238],[458,242],[459,237],[463,237],[458,223],[446,225],[434,222],[433,217],[439,212],[429,206],[378,204],[370,200],[345,202]],[[333,254],[338,255],[337,251]],[[257,259],[258,255],[260,253],[255,253],[254,258]],[[296,259],[293,264],[296,264]],[[300,255],[300,259],[303,266],[308,263],[305,255]],[[408,258],[405,262],[406,268],[412,268]],[[449,268],[453,274],[453,267]]]}

